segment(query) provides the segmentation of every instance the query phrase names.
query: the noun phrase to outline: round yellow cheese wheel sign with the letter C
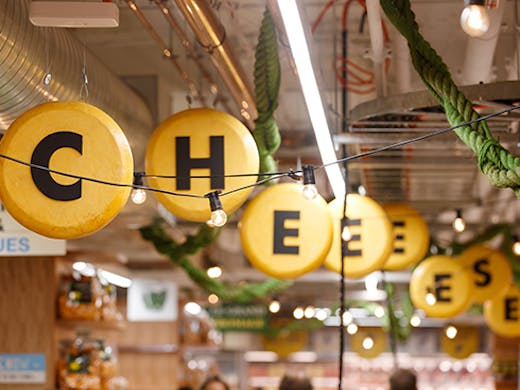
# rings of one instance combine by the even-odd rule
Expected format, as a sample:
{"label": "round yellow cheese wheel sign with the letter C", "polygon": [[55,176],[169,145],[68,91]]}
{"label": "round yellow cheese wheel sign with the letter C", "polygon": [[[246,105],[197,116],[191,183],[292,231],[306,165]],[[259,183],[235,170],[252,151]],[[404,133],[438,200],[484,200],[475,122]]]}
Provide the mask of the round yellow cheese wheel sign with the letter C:
{"label": "round yellow cheese wheel sign with the letter C", "polygon": [[[133,159],[117,123],[82,102],[50,102],[16,119],[0,153],[72,175],[131,185]],[[0,159],[0,197],[22,225],[52,238],[90,234],[125,205],[129,187],[65,177]]]}

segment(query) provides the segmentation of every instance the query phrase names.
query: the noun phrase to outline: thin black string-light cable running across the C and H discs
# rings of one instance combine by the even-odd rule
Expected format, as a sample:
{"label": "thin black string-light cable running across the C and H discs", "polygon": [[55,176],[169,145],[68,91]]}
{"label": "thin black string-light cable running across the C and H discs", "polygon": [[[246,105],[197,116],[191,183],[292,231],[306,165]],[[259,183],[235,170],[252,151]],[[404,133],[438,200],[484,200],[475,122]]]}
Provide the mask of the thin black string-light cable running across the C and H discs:
{"label": "thin black string-light cable running across the C and H discs", "polygon": [[[502,114],[505,114],[507,112],[511,112],[511,111],[518,110],[518,109],[520,109],[520,105],[511,106],[511,107],[505,108],[503,110],[500,110],[500,111],[498,111],[496,113],[487,114],[487,115],[481,116],[481,117],[479,117],[477,119],[473,119],[473,120],[470,120],[470,121],[467,121],[467,122],[464,122],[464,123],[461,123],[461,124],[458,124],[458,125],[455,125],[455,126],[451,126],[451,127],[445,128],[445,129],[439,129],[439,130],[433,131],[433,132],[428,133],[428,134],[424,134],[424,135],[419,136],[419,137],[411,138],[411,139],[408,139],[408,140],[396,142],[396,143],[393,143],[393,144],[390,144],[390,145],[387,145],[387,146],[383,146],[383,147],[380,147],[380,148],[372,149],[372,150],[369,150],[369,151],[366,151],[366,152],[362,152],[362,153],[358,153],[358,154],[351,155],[351,156],[348,156],[348,157],[344,157],[344,158],[341,158],[341,159],[339,159],[337,161],[334,161],[334,162],[331,162],[331,163],[328,163],[328,164],[323,164],[321,166],[315,166],[314,169],[315,170],[316,169],[323,169],[323,168],[325,168],[325,167],[327,167],[329,165],[332,165],[332,164],[346,163],[348,161],[352,161],[352,160],[360,159],[360,158],[363,158],[363,157],[367,157],[367,156],[370,156],[370,155],[373,155],[373,154],[377,154],[377,153],[380,153],[380,152],[383,152],[383,151],[386,151],[386,150],[390,150],[390,149],[393,149],[393,148],[396,148],[396,147],[399,147],[399,146],[408,145],[408,144],[413,143],[413,142],[422,141],[424,139],[431,138],[431,137],[434,137],[436,135],[448,133],[448,132],[453,131],[453,130],[459,128],[459,127],[468,126],[468,125],[471,125],[473,123],[477,123],[477,122],[480,122],[482,120],[486,120],[486,119],[489,119],[489,118],[492,118],[492,117],[495,117],[495,116],[498,116],[498,115],[502,115]],[[25,165],[27,167],[31,167],[31,168],[35,168],[35,169],[41,169],[41,170],[44,170],[44,171],[47,171],[47,172],[50,172],[50,173],[55,173],[55,174],[58,174],[58,175],[62,175],[62,176],[70,177],[70,178],[74,178],[74,179],[86,180],[86,181],[90,181],[90,182],[94,182],[94,183],[111,185],[111,186],[115,186],[115,187],[141,188],[141,189],[144,189],[144,190],[148,190],[148,191],[152,191],[152,192],[159,192],[159,193],[172,195],[172,196],[183,196],[183,197],[204,199],[204,194],[196,195],[196,194],[189,194],[189,193],[173,192],[173,191],[161,190],[161,189],[158,189],[158,188],[153,188],[153,187],[148,187],[148,186],[135,186],[135,185],[128,184],[128,183],[116,183],[116,182],[111,182],[111,181],[107,181],[107,180],[100,180],[100,179],[96,179],[96,178],[91,178],[91,177],[87,177],[87,176],[70,174],[70,173],[58,171],[56,169],[50,169],[50,168],[42,166],[42,165],[28,163],[28,162],[19,160],[17,158],[14,158],[14,157],[11,157],[11,156],[8,156],[8,155],[5,155],[5,154],[0,154],[0,158],[4,158],[6,160],[15,162],[17,164]],[[223,192],[220,196],[230,195],[230,194],[233,194],[235,192],[238,192],[238,191],[241,191],[241,190],[245,190],[245,189],[248,189],[248,188],[251,188],[251,187],[259,186],[259,185],[262,185],[262,184],[264,184],[266,182],[269,182],[271,180],[279,179],[279,178],[282,178],[282,177],[292,177],[292,178],[294,178],[294,177],[301,177],[302,174],[303,174],[303,172],[302,172],[301,169],[300,170],[292,170],[291,169],[291,170],[286,171],[286,172],[276,172],[276,173],[243,173],[243,174],[224,175],[224,177],[226,177],[226,178],[227,177],[245,177],[245,176],[252,176],[252,177],[253,176],[256,176],[256,177],[258,177],[258,176],[270,176],[270,177],[268,177],[268,178],[266,178],[264,180],[257,181],[257,182],[255,182],[253,184],[249,184],[249,185],[246,185],[246,186],[243,186],[243,187],[237,187],[237,188],[231,189],[229,191]],[[143,177],[176,178],[175,176],[160,176],[160,175],[157,175],[157,176],[156,175],[143,175]],[[200,178],[200,179],[202,179],[202,178],[203,179],[211,179],[213,177],[219,177],[219,175],[217,175],[217,176],[213,176],[213,175],[190,176],[190,178]]]}

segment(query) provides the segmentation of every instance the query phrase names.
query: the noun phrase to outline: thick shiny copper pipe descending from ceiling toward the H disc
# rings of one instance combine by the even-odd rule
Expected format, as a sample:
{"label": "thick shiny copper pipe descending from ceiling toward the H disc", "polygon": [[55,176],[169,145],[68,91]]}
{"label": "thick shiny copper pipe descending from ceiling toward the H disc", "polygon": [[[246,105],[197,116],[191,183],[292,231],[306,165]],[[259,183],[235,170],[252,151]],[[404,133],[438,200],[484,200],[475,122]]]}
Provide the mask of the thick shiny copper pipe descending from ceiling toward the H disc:
{"label": "thick shiny copper pipe descending from ceiling toward the H disc", "polygon": [[250,129],[258,116],[255,99],[245,73],[235,58],[226,30],[217,20],[206,0],[175,0],[177,7],[195,32],[200,45],[210,55],[220,77],[238,104],[240,114]]}

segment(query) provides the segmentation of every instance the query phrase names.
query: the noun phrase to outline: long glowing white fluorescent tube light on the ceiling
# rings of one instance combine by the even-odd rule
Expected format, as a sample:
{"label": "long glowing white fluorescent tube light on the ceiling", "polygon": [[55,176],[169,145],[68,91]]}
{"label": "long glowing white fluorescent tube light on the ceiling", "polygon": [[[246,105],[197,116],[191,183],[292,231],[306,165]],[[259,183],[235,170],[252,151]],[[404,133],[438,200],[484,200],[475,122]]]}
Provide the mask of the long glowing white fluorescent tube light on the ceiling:
{"label": "long glowing white fluorescent tube light on the ceiling", "polygon": [[[309,112],[316,136],[321,161],[323,164],[332,163],[337,160],[336,152],[330,136],[316,75],[312,68],[300,12],[295,0],[278,0],[278,7],[280,8],[287,38],[289,39],[294,62],[298,70],[303,97],[305,98],[307,111]],[[345,196],[345,181],[343,180],[339,164],[329,165],[325,168],[325,171],[327,172],[334,196],[338,199],[343,199]]]}

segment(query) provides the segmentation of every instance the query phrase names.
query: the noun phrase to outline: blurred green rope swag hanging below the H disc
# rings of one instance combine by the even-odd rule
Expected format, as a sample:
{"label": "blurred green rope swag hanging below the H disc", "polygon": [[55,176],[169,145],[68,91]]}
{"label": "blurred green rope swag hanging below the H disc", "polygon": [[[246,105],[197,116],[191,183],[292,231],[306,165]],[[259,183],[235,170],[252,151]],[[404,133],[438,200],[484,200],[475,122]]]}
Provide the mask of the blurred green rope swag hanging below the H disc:
{"label": "blurred green rope swag hanging below the H disc", "polygon": [[170,258],[170,261],[180,266],[200,288],[210,294],[216,294],[224,302],[249,303],[255,299],[277,293],[289,287],[292,281],[267,279],[261,283],[243,283],[231,285],[210,278],[206,271],[197,267],[189,259],[202,248],[210,245],[218,237],[220,229],[210,228],[202,224],[194,235],[188,235],[186,241],[179,244],[171,239],[161,226],[160,220],[139,229],[141,236],[155,246],[159,253]]}

